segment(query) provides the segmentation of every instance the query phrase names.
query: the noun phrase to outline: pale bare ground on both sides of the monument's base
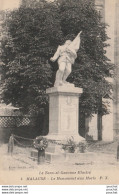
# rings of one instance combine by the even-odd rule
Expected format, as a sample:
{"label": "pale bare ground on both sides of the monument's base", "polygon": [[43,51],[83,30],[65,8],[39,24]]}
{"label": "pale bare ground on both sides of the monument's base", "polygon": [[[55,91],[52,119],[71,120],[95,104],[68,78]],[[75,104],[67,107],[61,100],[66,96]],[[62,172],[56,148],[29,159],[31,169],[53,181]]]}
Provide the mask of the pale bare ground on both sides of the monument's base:
{"label": "pale bare ground on both sides of the monument's base", "polygon": [[[117,161],[117,146],[118,141],[114,142],[90,142],[87,145],[85,153],[79,153],[79,157],[72,157],[74,154],[69,154],[66,157],[63,165],[76,165],[76,166],[90,166],[94,167],[113,167],[119,166]],[[37,169],[39,166],[37,160],[31,158],[31,147],[14,146],[13,154],[8,154],[8,145],[0,145],[0,155],[2,159],[2,168],[4,170],[15,169]],[[75,154],[76,156],[77,154]],[[45,162],[43,165],[50,165],[51,163]]]}

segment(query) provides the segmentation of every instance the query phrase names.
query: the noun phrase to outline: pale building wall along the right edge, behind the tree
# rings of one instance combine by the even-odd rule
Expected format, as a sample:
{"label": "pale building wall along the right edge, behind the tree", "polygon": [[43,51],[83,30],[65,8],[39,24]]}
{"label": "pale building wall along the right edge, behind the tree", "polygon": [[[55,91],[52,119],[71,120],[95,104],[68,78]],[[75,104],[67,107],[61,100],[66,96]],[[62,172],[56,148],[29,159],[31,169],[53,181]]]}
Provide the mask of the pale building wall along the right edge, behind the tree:
{"label": "pale building wall along the right edge, behind the tree", "polygon": [[110,47],[107,48],[106,55],[116,66],[114,79],[109,80],[114,84],[113,101],[110,102],[111,119],[110,115],[107,115],[108,124],[113,129],[115,136],[119,134],[119,0],[95,0],[95,5],[101,12],[103,21],[109,25],[107,34],[110,37],[108,40]]}

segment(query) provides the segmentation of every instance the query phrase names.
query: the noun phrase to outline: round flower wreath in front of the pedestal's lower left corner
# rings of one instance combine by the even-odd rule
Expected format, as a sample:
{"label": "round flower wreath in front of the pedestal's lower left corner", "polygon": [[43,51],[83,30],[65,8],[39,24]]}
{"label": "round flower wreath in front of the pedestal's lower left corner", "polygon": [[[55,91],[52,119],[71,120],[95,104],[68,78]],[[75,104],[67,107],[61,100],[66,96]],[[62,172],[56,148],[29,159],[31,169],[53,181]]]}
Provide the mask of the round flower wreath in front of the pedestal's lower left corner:
{"label": "round flower wreath in front of the pedestal's lower left corner", "polygon": [[43,138],[42,136],[38,136],[34,140],[33,145],[35,149],[45,150],[48,146],[48,141],[46,138]]}

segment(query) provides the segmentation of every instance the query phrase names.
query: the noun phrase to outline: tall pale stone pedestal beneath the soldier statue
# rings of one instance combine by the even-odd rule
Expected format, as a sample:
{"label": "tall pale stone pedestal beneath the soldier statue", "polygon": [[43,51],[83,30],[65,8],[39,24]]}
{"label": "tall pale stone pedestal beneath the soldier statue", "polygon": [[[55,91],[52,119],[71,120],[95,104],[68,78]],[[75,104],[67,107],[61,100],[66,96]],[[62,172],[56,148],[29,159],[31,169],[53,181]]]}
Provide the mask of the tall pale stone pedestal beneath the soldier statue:
{"label": "tall pale stone pedestal beneath the soldier statue", "polygon": [[[47,139],[63,143],[68,138],[74,138],[75,142],[84,140],[78,133],[79,121],[79,96],[81,88],[73,84],[49,88],[46,90],[49,95],[49,134]],[[61,145],[50,143],[46,150],[46,157],[60,158]],[[63,155],[62,155],[63,156]],[[58,159],[59,160],[59,159]]]}

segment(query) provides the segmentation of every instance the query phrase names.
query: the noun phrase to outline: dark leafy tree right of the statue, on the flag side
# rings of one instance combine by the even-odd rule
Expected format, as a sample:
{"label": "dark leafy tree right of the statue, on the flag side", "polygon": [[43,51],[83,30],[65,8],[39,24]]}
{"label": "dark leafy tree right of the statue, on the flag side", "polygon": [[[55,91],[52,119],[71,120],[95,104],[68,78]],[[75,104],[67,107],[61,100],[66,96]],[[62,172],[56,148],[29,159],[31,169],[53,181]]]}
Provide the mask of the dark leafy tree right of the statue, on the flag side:
{"label": "dark leafy tree right of the statue, on the flag side", "polygon": [[[105,23],[101,22],[101,16],[96,11],[93,1],[75,0],[60,2],[61,26],[66,39],[72,39],[80,30],[81,48],[73,72],[69,77],[70,81],[83,88],[80,98],[80,108],[82,112],[108,113],[108,110],[100,104],[100,99],[107,94],[110,98],[112,84],[106,78],[111,77],[110,71],[114,70],[114,65],[109,63],[106,57]],[[102,106],[102,107],[100,107]]]}

